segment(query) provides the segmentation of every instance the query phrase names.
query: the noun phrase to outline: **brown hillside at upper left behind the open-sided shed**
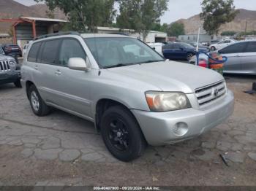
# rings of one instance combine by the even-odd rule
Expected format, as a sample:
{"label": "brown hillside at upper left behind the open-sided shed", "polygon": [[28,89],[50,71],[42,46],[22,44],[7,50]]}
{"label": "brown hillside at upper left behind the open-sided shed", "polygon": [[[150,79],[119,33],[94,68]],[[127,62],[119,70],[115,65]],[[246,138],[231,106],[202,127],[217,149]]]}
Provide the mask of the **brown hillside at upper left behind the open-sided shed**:
{"label": "brown hillside at upper left behind the open-sided shed", "polygon": [[[45,4],[36,4],[31,7],[25,6],[13,0],[0,0],[0,18],[18,18],[20,16],[47,17],[48,7]],[[67,19],[60,9],[54,11],[54,17]],[[12,23],[0,22],[0,33],[7,33]]]}

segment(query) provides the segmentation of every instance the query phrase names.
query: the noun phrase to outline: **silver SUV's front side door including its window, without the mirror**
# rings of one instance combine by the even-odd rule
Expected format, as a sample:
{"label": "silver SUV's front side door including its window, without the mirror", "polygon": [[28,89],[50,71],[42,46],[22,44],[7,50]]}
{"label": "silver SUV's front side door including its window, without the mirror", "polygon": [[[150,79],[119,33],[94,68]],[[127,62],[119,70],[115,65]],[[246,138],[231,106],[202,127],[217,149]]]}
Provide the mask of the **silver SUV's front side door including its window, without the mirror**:
{"label": "silver SUV's front side door including its window, without the mirror", "polygon": [[91,101],[89,98],[89,84],[91,72],[72,70],[68,68],[69,58],[83,58],[89,60],[78,39],[62,39],[59,50],[59,61],[56,64],[55,90],[58,93],[58,106],[67,112],[91,116]]}

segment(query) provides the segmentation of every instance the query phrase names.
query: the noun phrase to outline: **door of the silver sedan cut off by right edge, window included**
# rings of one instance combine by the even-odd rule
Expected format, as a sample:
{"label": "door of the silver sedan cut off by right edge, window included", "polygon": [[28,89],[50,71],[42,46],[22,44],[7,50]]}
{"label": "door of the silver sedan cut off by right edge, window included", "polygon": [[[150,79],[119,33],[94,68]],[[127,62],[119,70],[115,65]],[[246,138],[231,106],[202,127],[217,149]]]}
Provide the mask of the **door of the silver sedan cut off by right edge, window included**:
{"label": "door of the silver sedan cut off by right edge, window included", "polygon": [[241,54],[241,67],[246,74],[256,74],[256,42],[247,42]]}

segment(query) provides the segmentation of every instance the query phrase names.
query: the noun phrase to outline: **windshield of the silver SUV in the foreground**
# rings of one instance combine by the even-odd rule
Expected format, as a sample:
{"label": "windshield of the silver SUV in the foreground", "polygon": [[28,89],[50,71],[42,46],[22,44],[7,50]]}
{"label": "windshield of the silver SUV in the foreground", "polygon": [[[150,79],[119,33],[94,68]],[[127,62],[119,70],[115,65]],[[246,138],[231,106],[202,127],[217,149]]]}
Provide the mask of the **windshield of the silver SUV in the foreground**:
{"label": "windshield of the silver SUV in the foreground", "polygon": [[138,39],[96,37],[84,40],[101,68],[164,61],[161,55]]}

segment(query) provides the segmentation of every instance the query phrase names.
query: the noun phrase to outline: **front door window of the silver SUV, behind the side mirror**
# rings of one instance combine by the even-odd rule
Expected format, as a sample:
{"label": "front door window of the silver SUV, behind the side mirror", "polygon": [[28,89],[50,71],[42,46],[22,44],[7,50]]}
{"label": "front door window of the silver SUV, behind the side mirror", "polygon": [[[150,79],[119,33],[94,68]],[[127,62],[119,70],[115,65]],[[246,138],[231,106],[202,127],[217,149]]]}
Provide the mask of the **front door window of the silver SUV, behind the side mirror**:
{"label": "front door window of the silver SUV, behind the side mirror", "polygon": [[80,42],[75,39],[64,39],[61,44],[59,65],[67,66],[69,58],[83,58],[86,61],[86,53]]}

